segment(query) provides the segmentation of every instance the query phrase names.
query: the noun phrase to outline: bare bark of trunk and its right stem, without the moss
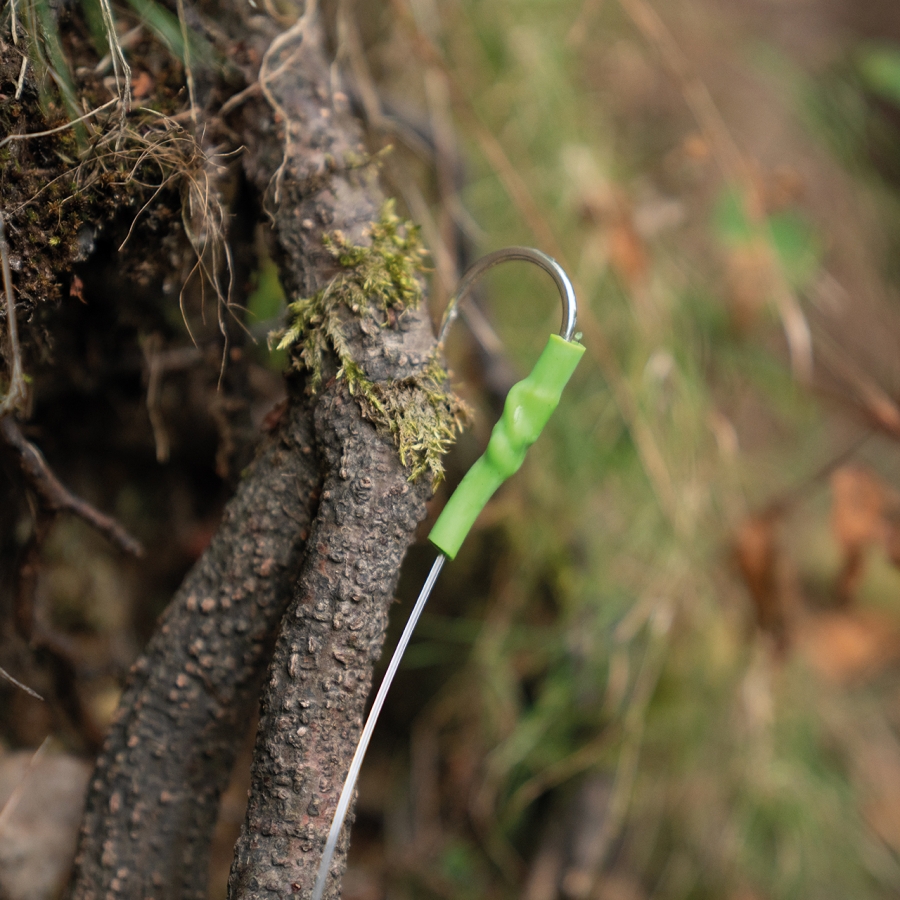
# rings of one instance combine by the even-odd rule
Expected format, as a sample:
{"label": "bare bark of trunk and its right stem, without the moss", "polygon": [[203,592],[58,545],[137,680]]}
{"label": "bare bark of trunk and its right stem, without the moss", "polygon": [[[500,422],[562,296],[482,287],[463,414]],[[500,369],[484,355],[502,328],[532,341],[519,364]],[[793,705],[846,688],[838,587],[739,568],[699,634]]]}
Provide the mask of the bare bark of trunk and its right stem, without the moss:
{"label": "bare bark of trunk and its right stem, without the moss", "polygon": [[[359,126],[346,99],[327,90],[328,65],[315,32],[287,43],[283,54],[296,61],[269,85],[291,136],[274,227],[289,283],[308,296],[322,287],[329,265],[323,231],[365,243],[384,198],[371,168],[350,164],[362,152]],[[434,350],[422,310],[390,320],[377,312],[348,314],[345,334],[367,377],[384,385],[420,372]],[[343,382],[332,381],[319,398],[315,434],[325,481],[263,697],[252,793],[229,884],[233,900],[312,890],[362,728],[400,562],[430,496],[427,483],[409,484],[393,442],[362,418]],[[346,840],[335,876],[345,851]],[[333,877],[330,892],[338,891]]]}

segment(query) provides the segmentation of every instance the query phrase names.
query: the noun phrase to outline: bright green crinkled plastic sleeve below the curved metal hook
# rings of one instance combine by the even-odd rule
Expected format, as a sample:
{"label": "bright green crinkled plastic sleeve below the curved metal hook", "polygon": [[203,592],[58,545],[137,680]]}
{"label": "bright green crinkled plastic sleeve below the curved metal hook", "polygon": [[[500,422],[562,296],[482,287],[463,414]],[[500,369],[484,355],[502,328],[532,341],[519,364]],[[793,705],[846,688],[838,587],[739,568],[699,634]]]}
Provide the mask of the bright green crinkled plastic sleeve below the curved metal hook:
{"label": "bright green crinkled plastic sleeve below the curved metal hook", "polygon": [[584,347],[551,335],[531,374],[510,389],[484,454],[466,472],[428,540],[453,559],[494,491],[519,470],[528,448],[559,405]]}

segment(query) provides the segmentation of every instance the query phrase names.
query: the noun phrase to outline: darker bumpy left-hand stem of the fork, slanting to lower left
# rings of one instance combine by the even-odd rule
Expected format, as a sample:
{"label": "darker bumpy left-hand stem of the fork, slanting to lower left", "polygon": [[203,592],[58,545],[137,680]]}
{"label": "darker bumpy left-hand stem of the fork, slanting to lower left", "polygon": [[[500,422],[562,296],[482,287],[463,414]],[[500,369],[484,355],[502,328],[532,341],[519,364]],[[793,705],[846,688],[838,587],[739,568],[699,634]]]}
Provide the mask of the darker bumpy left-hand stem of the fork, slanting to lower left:
{"label": "darker bumpy left-hand stem of the fork, slanting to lower left", "polygon": [[294,403],[132,669],[91,783],[71,896],[206,896],[218,799],[319,494]]}

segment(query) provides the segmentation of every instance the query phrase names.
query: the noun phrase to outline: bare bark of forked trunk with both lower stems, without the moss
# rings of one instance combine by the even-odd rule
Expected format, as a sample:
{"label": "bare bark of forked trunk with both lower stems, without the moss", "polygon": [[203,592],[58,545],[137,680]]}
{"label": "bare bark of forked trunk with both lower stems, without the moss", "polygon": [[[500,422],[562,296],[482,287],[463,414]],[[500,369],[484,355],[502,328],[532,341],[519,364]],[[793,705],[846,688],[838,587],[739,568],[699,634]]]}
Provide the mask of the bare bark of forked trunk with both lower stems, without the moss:
{"label": "bare bark of forked trunk with both lower stems, without the moss", "polygon": [[[261,59],[275,34],[261,16],[248,25],[248,11],[244,4],[229,19],[223,10],[220,22],[247,51],[238,63]],[[228,119],[294,297],[313,295],[337,274],[325,236],[340,231],[365,245],[384,203],[374,168],[353,162],[364,153],[360,129],[346,98],[330,90],[321,43],[308,23],[271,61],[279,74],[268,83],[269,99],[248,95]],[[248,83],[255,75],[250,67]],[[423,310],[341,316],[353,358],[381,389],[433,365]],[[91,787],[71,893],[77,900],[204,896],[236,729],[291,595],[229,893],[244,900],[311,889],[400,562],[430,494],[427,479],[410,483],[391,436],[364,418],[338,368],[326,354],[321,390],[290,393],[278,436],[135,667]],[[336,869],[343,858],[341,850]],[[330,889],[337,893],[336,881]]]}

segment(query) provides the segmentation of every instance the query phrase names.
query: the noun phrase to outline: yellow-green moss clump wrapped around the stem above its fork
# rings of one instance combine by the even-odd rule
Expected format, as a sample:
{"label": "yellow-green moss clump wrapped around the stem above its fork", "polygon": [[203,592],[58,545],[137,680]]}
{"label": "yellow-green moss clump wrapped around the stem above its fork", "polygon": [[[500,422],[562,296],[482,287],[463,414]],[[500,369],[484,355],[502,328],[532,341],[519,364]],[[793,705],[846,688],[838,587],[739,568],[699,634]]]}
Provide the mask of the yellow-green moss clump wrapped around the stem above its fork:
{"label": "yellow-green moss clump wrapped around the stem above its fork", "polygon": [[441,457],[466,417],[462,401],[447,390],[447,372],[435,355],[421,374],[390,383],[373,382],[350,350],[340,310],[370,316],[415,309],[422,300],[420,277],[425,251],[418,229],[402,221],[389,200],[369,230],[369,246],[351,244],[340,232],[326,235],[325,246],[344,270],[312,297],[288,305],[288,325],[276,334],[279,350],[291,348],[294,366],[310,373],[309,389],[322,384],[325,356],[334,353],[338,378],[347,382],[363,415],[394,437],[410,480],[429,472],[437,484],[444,475]]}

